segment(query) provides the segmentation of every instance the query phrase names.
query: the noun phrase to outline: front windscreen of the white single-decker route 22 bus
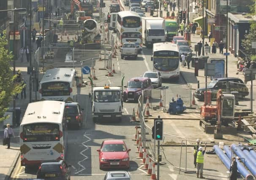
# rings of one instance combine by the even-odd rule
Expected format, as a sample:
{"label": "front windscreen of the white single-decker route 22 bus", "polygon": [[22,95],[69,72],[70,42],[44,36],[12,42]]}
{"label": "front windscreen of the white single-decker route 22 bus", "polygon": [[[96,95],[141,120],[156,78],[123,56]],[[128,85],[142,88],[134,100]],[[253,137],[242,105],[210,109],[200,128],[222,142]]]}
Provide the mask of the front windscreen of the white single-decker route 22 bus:
{"label": "front windscreen of the white single-decker route 22 bus", "polygon": [[154,52],[153,64],[158,71],[174,71],[179,67],[179,52],[156,51]]}

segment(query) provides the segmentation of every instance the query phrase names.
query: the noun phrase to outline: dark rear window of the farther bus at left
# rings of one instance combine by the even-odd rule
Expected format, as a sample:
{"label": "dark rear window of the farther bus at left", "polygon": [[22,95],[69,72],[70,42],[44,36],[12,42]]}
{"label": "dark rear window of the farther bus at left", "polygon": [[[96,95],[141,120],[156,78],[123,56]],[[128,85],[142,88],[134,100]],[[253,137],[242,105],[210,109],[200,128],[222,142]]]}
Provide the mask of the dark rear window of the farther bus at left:
{"label": "dark rear window of the farther bus at left", "polygon": [[48,82],[41,87],[42,96],[69,96],[70,86],[68,82]]}

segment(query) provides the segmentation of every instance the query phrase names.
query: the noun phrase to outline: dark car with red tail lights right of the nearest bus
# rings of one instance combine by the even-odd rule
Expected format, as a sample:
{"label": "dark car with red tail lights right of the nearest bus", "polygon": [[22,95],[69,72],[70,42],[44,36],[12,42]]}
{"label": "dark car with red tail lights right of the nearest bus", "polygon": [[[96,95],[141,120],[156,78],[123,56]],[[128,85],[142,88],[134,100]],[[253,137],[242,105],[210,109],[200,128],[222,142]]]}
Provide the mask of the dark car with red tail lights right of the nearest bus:
{"label": "dark car with red tail lights right of the nearest bus", "polygon": [[82,109],[78,102],[65,103],[66,118],[68,126],[75,125],[78,129],[82,127],[83,115]]}

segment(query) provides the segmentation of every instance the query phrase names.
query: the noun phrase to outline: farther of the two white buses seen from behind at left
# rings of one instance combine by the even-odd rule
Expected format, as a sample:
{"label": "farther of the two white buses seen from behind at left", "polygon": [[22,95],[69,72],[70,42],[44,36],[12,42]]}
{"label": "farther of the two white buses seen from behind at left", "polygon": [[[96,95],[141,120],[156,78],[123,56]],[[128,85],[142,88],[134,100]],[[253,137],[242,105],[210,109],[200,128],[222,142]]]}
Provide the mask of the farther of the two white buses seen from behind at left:
{"label": "farther of the two white buses seen from behind at left", "polygon": [[74,68],[53,68],[46,71],[39,84],[40,99],[75,101],[77,78]]}

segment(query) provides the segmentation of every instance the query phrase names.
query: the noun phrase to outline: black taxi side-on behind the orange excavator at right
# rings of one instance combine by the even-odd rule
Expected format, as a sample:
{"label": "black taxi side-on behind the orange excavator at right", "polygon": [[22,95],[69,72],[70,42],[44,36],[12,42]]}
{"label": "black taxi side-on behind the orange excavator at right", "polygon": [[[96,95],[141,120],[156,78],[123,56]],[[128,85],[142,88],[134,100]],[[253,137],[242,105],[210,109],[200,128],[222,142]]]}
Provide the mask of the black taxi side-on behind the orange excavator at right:
{"label": "black taxi side-on behind the orange excavator at right", "polygon": [[[216,94],[219,89],[223,92],[234,94],[235,97],[244,98],[248,96],[249,91],[245,83],[240,78],[216,78],[207,85],[207,91],[212,92],[212,99],[216,99]],[[204,100],[205,88],[196,89],[195,97],[199,100]]]}

